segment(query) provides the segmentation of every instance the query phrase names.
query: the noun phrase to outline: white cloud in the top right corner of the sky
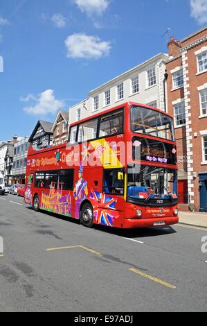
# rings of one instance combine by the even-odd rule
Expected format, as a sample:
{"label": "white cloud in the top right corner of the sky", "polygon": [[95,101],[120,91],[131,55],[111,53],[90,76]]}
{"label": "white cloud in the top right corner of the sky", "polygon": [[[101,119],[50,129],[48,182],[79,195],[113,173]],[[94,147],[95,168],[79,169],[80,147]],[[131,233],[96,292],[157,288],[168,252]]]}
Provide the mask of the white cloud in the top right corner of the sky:
{"label": "white cloud in the top right corner of the sky", "polygon": [[207,22],[207,0],[190,0],[191,17],[197,19],[199,24]]}

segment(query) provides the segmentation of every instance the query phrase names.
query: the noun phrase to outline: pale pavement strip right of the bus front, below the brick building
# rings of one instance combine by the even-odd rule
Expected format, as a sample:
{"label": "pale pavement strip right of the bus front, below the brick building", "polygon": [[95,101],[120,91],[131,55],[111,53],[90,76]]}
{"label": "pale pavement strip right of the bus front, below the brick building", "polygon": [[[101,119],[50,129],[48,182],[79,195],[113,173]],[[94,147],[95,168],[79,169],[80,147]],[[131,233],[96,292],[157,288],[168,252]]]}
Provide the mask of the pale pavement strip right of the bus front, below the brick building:
{"label": "pale pavement strip right of the bus front, below the brick building", "polygon": [[179,212],[179,223],[207,228],[207,214]]}

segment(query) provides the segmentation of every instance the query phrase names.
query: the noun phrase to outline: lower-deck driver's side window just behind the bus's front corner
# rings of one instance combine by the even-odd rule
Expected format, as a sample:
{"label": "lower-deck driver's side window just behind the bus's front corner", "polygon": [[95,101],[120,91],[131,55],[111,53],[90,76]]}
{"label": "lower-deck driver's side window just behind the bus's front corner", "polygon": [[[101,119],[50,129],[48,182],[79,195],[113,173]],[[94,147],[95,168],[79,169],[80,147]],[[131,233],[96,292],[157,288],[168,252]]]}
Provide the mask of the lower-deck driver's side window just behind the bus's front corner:
{"label": "lower-deck driver's side window just behind the bus's front corner", "polygon": [[124,194],[124,178],[119,180],[119,175],[124,175],[123,169],[107,169],[104,171],[103,191],[105,194]]}

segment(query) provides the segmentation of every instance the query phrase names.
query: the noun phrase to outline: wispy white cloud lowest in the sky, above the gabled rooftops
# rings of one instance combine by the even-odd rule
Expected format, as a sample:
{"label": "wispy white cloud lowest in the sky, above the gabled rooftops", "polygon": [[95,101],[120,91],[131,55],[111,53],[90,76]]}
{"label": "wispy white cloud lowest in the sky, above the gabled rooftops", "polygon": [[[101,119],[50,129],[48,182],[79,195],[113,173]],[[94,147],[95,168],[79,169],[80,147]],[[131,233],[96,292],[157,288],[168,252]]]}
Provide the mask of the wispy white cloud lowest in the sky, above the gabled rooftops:
{"label": "wispy white cloud lowest in the sky, above the gabled rooftops", "polygon": [[28,114],[35,116],[46,116],[47,114],[55,114],[58,110],[63,110],[65,103],[55,99],[53,89],[47,89],[35,98],[32,94],[21,98],[21,101],[35,100],[35,103],[24,108],[24,111]]}

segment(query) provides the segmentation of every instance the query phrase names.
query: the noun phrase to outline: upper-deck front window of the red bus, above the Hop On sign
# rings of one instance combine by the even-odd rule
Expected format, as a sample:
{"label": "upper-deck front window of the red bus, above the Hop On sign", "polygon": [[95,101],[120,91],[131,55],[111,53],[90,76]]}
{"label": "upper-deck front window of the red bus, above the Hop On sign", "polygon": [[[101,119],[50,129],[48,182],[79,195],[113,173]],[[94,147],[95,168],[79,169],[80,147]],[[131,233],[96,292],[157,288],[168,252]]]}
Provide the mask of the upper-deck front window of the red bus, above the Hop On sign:
{"label": "upper-deck front window of the red bus, above the Hop On sign", "polygon": [[133,105],[131,108],[133,132],[174,141],[173,120],[167,115]]}

